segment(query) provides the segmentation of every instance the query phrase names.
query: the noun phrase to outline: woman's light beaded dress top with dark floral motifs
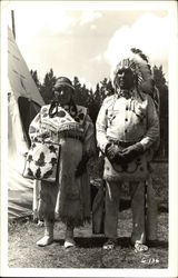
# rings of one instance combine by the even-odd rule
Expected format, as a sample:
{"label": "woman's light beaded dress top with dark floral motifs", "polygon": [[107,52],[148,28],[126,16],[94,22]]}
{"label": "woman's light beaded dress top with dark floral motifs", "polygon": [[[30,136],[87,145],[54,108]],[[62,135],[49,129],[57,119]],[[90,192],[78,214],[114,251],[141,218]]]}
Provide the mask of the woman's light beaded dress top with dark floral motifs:
{"label": "woman's light beaded dress top with dark floral motifs", "polygon": [[96,152],[95,128],[87,108],[77,106],[72,117],[66,109],[58,107],[55,117],[49,117],[50,105],[43,106],[29,127],[31,141],[48,139],[57,142],[60,137],[72,137],[83,142],[83,151],[88,155]]}

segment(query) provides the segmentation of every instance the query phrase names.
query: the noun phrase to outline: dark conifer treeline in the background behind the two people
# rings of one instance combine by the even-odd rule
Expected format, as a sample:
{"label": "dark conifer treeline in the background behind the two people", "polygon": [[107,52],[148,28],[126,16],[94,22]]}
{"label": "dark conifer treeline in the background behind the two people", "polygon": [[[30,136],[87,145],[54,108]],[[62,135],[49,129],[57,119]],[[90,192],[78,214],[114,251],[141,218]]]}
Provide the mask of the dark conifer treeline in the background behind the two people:
{"label": "dark conifer treeline in the background behind the two people", "polygon": [[[41,85],[38,78],[37,70],[31,70],[31,76],[44,100],[46,103],[49,103],[52,99],[52,88],[57,80],[53,75],[53,70],[50,69],[46,73],[43,83]],[[156,87],[159,90],[160,95],[160,148],[158,156],[162,158],[168,157],[168,86],[166,78],[162,71],[162,66],[152,68],[154,79]],[[86,85],[81,85],[78,77],[73,78],[75,95],[73,99],[77,105],[85,106],[89,109],[89,115],[96,122],[99,109],[103,99],[108,96],[111,96],[115,90],[111,80],[103,78],[102,81],[98,82],[96,90],[89,90]]]}

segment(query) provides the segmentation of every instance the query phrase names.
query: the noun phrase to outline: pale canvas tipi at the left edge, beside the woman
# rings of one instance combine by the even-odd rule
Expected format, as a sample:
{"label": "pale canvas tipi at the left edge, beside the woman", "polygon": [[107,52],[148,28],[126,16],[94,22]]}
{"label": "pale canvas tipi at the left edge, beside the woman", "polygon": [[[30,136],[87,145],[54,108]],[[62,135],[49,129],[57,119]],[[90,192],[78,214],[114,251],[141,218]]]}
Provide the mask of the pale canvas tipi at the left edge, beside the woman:
{"label": "pale canvas tipi at the left edge, beside the woman", "polygon": [[13,34],[8,29],[8,218],[32,212],[33,182],[22,177],[24,153],[30,140],[28,128],[43,105]]}

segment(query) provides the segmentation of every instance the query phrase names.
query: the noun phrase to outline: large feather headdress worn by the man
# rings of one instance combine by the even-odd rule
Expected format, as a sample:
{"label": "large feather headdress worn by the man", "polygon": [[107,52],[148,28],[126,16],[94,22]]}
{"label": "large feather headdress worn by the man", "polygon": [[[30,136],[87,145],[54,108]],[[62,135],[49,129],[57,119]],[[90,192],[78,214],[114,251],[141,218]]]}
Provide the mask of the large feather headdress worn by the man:
{"label": "large feather headdress worn by the man", "polygon": [[[138,87],[141,88],[145,83],[147,85],[147,87],[151,87],[151,67],[149,64],[148,57],[142,53],[140,49],[131,48],[129,53],[120,59],[115,70],[115,78],[118,71],[123,68],[131,69]],[[150,86],[148,86],[149,82]],[[150,89],[151,88],[148,88],[148,90]]]}

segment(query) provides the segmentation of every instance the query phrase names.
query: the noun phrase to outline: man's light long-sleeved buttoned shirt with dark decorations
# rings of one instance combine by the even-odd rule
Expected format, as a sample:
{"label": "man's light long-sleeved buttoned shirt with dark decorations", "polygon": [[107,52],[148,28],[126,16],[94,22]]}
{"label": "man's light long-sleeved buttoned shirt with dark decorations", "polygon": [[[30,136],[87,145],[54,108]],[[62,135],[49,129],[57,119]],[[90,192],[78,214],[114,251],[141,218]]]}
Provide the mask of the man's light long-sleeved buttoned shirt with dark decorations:
{"label": "man's light long-sleeved buttoned shirt with dark decorations", "polygon": [[113,95],[103,100],[97,118],[97,141],[105,152],[110,139],[140,142],[147,150],[159,138],[159,119],[149,95],[137,90],[125,98]]}

